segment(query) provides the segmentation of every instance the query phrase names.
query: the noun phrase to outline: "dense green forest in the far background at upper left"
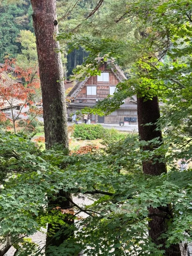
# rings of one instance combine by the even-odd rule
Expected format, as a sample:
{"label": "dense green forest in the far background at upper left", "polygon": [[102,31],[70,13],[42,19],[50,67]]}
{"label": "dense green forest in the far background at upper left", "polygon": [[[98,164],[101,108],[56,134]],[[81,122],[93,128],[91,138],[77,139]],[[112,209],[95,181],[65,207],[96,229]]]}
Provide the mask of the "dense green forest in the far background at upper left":
{"label": "dense green forest in the far background at upper left", "polygon": [[[84,9],[87,2],[81,2],[80,9]],[[67,14],[68,6],[64,6],[63,2],[60,4],[58,1],[58,20],[60,20],[59,29],[63,31],[64,24],[62,19]],[[68,19],[73,19],[73,16],[69,16]],[[30,31],[32,34],[29,34]],[[24,56],[21,56],[23,50],[28,51],[32,41],[35,42],[34,28],[32,22],[32,6],[30,0],[21,1],[17,3],[11,0],[4,0],[0,3],[0,62],[4,62],[4,57],[10,55],[11,57],[18,59],[18,64],[22,65]],[[24,45],[26,38],[31,38],[27,46]],[[65,48],[66,46],[62,46]],[[34,46],[36,52],[36,45]],[[34,55],[34,54],[33,54]],[[81,65],[84,58],[88,56],[88,53],[82,48],[74,49],[69,54],[66,54],[64,50],[62,54],[62,61],[64,64],[65,76],[69,77],[73,74],[72,70],[77,65]],[[31,56],[26,56],[27,61],[30,62]],[[37,60],[37,57],[32,57],[33,60]],[[30,65],[31,66],[31,65]],[[24,66],[22,66],[24,68]],[[68,78],[69,79],[69,78]]]}

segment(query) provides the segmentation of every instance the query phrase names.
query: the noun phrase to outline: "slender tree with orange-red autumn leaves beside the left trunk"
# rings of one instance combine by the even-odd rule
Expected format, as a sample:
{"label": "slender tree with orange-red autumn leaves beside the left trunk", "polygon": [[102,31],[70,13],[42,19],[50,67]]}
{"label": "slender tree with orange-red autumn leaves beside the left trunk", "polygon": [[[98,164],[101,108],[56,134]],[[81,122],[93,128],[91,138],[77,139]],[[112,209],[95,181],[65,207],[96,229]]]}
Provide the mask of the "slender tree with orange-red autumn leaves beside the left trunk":
{"label": "slender tree with orange-red autumn leaves beside the left trunk", "polygon": [[[28,127],[36,116],[42,114],[42,109],[31,108],[30,113],[33,118],[31,120],[27,118],[24,109],[28,104],[31,106],[34,104],[32,95],[40,87],[40,82],[38,78],[34,78],[32,68],[27,70],[22,70],[19,67],[13,68],[12,66],[15,64],[15,59],[8,58],[0,68],[0,119],[2,121],[9,119],[16,133],[17,122],[21,113],[26,116],[26,127]],[[10,110],[10,116],[6,114],[6,110]]]}

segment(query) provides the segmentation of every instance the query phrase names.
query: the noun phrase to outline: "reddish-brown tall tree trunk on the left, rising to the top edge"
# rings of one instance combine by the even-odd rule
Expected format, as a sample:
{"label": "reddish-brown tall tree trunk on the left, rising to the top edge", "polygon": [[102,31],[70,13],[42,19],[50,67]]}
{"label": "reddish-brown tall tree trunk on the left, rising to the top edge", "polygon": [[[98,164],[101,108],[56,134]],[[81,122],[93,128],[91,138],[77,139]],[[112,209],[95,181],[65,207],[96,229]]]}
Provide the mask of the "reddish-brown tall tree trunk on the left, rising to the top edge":
{"label": "reddish-brown tall tree trunk on the left, rising to the top edge", "polygon": [[[63,144],[68,148],[67,116],[64,94],[64,74],[59,48],[55,40],[58,32],[56,17],[56,0],[31,0],[33,8],[33,24],[36,35],[36,45],[38,52],[39,72],[42,90],[43,112],[44,112],[44,130],[46,148],[50,148],[56,143]],[[71,208],[71,195],[60,191],[56,199],[49,198],[49,209],[59,206],[61,209]],[[68,224],[73,224],[67,217],[60,217]],[[46,239],[46,255],[48,246],[59,246],[67,236],[60,236],[56,239],[50,234],[54,229],[62,231],[63,227],[52,221],[48,223],[48,235]]]}

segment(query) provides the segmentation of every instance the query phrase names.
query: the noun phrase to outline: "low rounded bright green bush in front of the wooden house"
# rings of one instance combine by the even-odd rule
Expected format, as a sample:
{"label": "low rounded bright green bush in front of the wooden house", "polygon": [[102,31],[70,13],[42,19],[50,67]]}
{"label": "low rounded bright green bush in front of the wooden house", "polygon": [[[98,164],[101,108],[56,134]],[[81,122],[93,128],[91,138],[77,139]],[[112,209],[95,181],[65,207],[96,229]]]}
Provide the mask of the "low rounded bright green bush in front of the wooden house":
{"label": "low rounded bright green bush in front of the wooden house", "polygon": [[82,140],[95,140],[102,138],[104,130],[100,124],[78,124],[75,126],[73,136]]}

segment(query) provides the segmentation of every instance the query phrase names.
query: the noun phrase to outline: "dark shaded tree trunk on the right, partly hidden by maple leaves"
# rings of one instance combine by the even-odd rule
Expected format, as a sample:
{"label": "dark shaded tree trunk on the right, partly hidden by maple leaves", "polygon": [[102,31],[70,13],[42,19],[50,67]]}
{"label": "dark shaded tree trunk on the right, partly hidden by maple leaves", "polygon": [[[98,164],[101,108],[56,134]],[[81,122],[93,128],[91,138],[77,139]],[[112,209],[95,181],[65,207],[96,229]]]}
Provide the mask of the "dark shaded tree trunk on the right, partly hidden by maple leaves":
{"label": "dark shaded tree trunk on the right, partly hidden by maple leaves", "polygon": [[[158,98],[154,97],[152,100],[146,100],[144,97],[137,97],[137,112],[138,112],[138,130],[140,140],[149,141],[154,138],[159,138],[162,140],[162,132],[156,130],[156,122],[160,118],[160,110],[158,104]],[[152,123],[150,126],[144,126],[143,124]],[[144,146],[143,150],[153,150],[151,146]],[[150,175],[160,175],[166,173],[166,163],[165,162],[156,162],[155,164],[152,161],[142,162],[144,174]],[[159,214],[169,212],[170,206],[167,206],[162,211],[159,209],[149,208],[150,214]],[[169,214],[171,218],[171,214]],[[181,256],[179,244],[171,245],[170,248],[165,248],[166,240],[158,239],[161,234],[165,233],[167,230],[167,220],[165,218],[160,218],[153,216],[152,220],[149,222],[149,236],[156,245],[162,244],[162,249],[165,250],[166,256]]]}

